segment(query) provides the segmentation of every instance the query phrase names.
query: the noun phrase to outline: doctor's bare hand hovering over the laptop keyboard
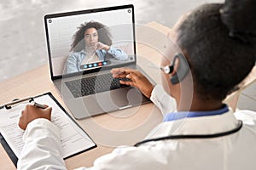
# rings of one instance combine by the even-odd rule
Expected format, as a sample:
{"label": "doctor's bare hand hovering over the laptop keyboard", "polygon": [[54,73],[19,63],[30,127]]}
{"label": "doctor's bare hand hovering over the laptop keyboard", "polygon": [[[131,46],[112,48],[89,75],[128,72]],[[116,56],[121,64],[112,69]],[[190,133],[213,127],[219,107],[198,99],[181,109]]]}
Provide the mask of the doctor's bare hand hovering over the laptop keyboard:
{"label": "doctor's bare hand hovering over the laptop keyboard", "polygon": [[150,98],[154,88],[153,84],[148,81],[140,71],[130,68],[112,69],[111,73],[115,78],[129,78],[131,81],[120,81],[121,84],[129,85],[138,88],[147,98]]}

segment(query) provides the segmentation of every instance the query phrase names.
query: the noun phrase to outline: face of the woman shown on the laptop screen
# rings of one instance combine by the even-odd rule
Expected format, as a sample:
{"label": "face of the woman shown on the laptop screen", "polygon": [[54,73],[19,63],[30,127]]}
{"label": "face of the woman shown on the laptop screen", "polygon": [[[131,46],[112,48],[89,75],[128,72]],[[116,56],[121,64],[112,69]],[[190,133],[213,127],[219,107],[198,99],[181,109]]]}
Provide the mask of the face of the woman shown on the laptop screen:
{"label": "face of the woman shown on the laptop screen", "polygon": [[89,28],[84,32],[84,42],[86,47],[94,47],[98,41],[98,31],[96,31],[95,28]]}

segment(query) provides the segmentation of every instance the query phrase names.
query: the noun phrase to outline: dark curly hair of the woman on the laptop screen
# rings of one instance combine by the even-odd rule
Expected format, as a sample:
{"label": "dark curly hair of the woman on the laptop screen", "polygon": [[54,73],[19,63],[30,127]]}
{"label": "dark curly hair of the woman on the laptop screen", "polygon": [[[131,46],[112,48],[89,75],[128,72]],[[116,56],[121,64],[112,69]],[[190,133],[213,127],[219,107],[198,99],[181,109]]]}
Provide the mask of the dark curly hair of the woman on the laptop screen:
{"label": "dark curly hair of the woman on the laptop screen", "polygon": [[73,43],[70,51],[79,52],[84,49],[84,32],[90,28],[95,28],[98,32],[99,42],[107,44],[108,46],[112,45],[112,35],[108,27],[104,26],[102,23],[90,21],[81,24],[81,26],[78,28],[79,30],[73,35]]}

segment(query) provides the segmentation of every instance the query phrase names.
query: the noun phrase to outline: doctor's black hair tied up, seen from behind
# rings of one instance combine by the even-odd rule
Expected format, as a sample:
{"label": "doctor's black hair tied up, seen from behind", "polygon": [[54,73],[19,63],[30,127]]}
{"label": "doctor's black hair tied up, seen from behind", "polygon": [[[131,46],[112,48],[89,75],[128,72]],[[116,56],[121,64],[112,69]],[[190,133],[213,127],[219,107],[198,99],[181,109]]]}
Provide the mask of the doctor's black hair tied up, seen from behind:
{"label": "doctor's black hair tied up, seen from behind", "polygon": [[255,65],[256,1],[226,0],[195,8],[177,31],[201,99],[223,100]]}

